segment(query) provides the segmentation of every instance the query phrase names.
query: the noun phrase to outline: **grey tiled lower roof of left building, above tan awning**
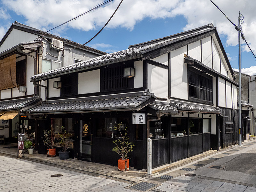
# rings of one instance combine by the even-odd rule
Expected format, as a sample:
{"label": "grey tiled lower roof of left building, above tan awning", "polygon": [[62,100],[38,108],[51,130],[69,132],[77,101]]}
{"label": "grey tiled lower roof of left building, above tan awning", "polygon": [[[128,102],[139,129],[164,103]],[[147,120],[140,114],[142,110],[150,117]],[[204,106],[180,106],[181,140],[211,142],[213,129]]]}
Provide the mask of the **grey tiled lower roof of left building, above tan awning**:
{"label": "grey tiled lower roof of left building, above tan awning", "polygon": [[32,100],[33,97],[0,101],[0,111],[18,110]]}

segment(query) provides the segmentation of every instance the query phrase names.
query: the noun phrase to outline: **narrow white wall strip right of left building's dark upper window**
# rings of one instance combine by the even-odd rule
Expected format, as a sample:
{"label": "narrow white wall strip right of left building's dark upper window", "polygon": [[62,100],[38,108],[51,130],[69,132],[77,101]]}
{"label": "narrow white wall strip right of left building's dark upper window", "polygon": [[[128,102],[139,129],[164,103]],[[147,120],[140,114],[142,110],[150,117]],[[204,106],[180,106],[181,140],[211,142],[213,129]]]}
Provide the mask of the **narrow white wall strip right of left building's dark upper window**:
{"label": "narrow white wall strip right of left building's dark upper window", "polygon": [[[35,56],[35,53],[31,53]],[[31,77],[34,75],[34,58],[27,56],[27,95],[34,94],[34,85],[30,82]]]}

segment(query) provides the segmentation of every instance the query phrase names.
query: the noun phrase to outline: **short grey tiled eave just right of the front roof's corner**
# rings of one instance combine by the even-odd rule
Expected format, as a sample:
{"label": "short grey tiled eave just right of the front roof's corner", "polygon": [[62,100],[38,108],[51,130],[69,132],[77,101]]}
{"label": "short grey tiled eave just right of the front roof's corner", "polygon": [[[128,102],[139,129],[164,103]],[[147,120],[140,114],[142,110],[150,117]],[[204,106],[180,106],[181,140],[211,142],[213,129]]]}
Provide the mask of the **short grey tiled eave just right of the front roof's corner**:
{"label": "short grey tiled eave just right of the front roof's corner", "polygon": [[173,114],[179,112],[176,107],[172,107],[170,103],[167,101],[155,100],[155,102],[149,104],[148,107],[155,109],[157,112],[162,112],[164,114]]}

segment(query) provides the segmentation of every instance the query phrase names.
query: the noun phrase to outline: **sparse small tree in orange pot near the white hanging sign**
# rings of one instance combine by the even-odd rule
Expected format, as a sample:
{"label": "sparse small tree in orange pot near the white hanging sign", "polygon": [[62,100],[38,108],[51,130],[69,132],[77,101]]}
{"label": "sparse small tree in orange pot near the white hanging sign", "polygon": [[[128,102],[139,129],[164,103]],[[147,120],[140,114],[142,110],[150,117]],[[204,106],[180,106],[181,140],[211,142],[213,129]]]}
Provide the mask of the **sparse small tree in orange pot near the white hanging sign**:
{"label": "sparse small tree in orange pot near the white hanging sign", "polygon": [[129,171],[129,158],[127,156],[128,152],[132,151],[132,148],[134,145],[132,145],[132,142],[128,142],[129,138],[126,137],[127,135],[127,127],[125,127],[125,133],[122,134],[120,128],[122,123],[119,123],[114,125],[114,129],[119,131],[122,137],[122,140],[114,140],[113,143],[116,145],[112,150],[115,151],[118,155],[121,156],[120,159],[118,159],[117,168],[118,171]]}

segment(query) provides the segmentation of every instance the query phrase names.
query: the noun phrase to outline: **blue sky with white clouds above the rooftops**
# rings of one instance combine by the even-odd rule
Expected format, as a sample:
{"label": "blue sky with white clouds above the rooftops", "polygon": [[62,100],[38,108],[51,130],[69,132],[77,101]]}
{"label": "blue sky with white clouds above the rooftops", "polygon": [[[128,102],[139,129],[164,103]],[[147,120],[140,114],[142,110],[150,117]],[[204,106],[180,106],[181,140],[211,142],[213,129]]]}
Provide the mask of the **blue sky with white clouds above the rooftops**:
{"label": "blue sky with white clouds above the rooftops", "polygon": [[[49,30],[76,15],[87,11],[103,0],[1,0],[0,38],[12,22]],[[119,0],[91,12],[77,20],[50,31],[83,44],[94,36],[114,12]],[[214,0],[223,12],[237,23],[239,10],[244,15],[242,28],[251,48],[256,50],[256,5],[250,0]],[[241,6],[241,3],[243,5]],[[250,6],[249,6],[250,4]],[[127,49],[131,44],[169,36],[203,26],[217,26],[222,44],[232,68],[238,67],[238,36],[234,26],[210,0],[124,0],[108,26],[88,46],[105,52]],[[255,25],[255,26],[254,26]],[[256,73],[256,61],[247,48],[242,48],[244,73]]]}

